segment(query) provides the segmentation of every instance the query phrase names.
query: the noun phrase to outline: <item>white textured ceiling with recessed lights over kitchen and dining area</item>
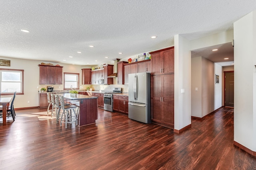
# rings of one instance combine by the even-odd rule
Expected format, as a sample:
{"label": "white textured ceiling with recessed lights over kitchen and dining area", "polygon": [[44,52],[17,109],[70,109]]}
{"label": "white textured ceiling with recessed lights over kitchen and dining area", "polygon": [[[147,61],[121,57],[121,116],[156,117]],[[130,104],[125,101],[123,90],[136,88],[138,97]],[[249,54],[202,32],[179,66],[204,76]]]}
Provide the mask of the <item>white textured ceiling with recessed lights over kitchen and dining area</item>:
{"label": "white textured ceiling with recessed lights over kitchen and dining area", "polygon": [[253,10],[255,0],[0,0],[0,56],[102,64],[233,29]]}

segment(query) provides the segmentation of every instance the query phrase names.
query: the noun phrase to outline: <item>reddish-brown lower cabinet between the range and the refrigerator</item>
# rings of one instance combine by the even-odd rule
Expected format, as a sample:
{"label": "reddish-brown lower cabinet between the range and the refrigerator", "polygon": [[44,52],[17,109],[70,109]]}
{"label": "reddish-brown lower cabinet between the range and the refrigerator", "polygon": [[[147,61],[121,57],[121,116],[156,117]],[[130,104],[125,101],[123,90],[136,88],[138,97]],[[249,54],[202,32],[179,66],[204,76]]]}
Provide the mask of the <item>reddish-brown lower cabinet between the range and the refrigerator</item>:
{"label": "reddish-brown lower cabinet between the range and the refrigerator", "polygon": [[113,110],[128,114],[128,96],[113,95]]}

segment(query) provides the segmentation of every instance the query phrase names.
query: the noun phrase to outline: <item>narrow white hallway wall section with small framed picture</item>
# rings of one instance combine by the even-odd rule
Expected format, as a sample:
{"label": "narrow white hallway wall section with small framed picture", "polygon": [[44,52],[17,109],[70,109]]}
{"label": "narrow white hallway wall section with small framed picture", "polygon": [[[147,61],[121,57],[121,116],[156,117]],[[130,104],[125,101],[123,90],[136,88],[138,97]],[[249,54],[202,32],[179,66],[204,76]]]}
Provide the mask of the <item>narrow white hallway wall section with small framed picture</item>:
{"label": "narrow white hallway wall section with small framed picture", "polygon": [[222,105],[222,66],[219,64],[214,63],[214,74],[219,75],[219,84],[215,83],[214,80],[214,110],[220,108]]}

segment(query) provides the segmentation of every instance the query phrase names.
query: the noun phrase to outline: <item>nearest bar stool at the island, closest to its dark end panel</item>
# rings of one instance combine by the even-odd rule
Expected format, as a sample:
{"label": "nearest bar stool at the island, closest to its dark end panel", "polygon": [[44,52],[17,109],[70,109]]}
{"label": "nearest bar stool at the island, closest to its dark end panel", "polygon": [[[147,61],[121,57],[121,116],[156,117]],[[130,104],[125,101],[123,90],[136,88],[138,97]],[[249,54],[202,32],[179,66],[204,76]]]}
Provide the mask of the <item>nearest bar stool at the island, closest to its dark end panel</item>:
{"label": "nearest bar stool at the island, closest to its dark end panel", "polygon": [[[63,123],[65,122],[65,128],[67,128],[68,123],[75,123],[75,125],[77,125],[77,115],[76,115],[76,111],[75,111],[76,106],[65,105],[64,104],[64,96],[59,96],[59,99],[60,99],[60,107],[63,110],[61,117],[60,117],[60,126],[62,126],[62,122]],[[74,116],[72,116],[72,114],[74,114]],[[64,116],[64,119],[63,119],[63,116]]]}

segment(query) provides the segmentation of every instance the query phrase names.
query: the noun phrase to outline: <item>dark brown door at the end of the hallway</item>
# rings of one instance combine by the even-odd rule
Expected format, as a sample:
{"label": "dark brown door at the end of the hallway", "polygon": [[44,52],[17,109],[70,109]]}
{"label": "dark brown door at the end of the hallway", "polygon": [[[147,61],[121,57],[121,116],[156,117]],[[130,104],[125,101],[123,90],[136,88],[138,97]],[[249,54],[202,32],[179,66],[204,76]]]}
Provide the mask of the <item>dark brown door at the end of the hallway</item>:
{"label": "dark brown door at the end of the hallway", "polygon": [[234,107],[234,71],[224,72],[224,105]]}

